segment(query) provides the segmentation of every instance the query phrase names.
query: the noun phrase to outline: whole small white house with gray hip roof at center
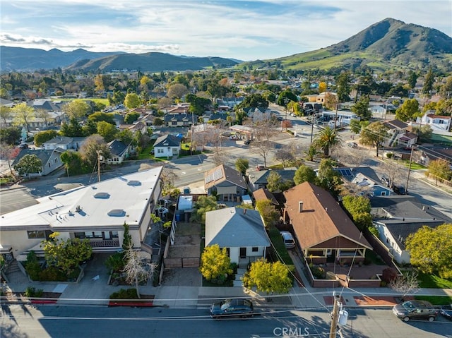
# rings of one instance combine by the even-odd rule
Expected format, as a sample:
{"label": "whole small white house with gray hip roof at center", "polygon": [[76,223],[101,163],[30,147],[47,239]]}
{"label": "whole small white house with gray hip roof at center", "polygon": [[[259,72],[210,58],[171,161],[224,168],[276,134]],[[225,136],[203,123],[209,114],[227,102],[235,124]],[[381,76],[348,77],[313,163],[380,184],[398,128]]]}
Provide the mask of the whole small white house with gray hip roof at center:
{"label": "whole small white house with gray hip roof at center", "polygon": [[227,207],[206,212],[206,247],[226,248],[231,262],[246,266],[266,257],[270,239],[256,210]]}

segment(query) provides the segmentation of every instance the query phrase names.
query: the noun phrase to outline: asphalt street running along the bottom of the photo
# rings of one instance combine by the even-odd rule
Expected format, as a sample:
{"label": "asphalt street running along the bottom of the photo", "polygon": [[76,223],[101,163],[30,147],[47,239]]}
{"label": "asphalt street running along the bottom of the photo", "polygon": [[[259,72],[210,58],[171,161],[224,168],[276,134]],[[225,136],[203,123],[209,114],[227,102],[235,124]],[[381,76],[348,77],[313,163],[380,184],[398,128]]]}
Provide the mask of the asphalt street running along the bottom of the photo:
{"label": "asphalt street running along the bottom of the photo", "polygon": [[[326,309],[258,309],[247,320],[212,320],[207,308],[107,308],[100,306],[8,306],[3,304],[1,337],[328,337]],[[452,337],[452,323],[403,322],[391,308],[347,308],[342,337]],[[449,334],[449,335],[448,335]],[[341,337],[338,334],[338,337]]]}

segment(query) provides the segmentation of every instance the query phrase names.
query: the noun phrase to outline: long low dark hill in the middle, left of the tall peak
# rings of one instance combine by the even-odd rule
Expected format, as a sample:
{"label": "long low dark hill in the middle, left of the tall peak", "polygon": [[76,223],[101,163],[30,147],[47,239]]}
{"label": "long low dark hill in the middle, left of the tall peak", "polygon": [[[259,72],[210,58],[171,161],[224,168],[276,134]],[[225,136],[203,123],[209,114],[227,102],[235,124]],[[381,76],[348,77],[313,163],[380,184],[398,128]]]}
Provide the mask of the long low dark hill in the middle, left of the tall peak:
{"label": "long low dark hill in the middle, left of the tall peak", "polygon": [[94,60],[81,60],[64,68],[66,71],[112,71],[137,69],[139,71],[199,71],[207,67],[230,67],[238,64],[220,57],[175,56],[165,53],[118,54]]}

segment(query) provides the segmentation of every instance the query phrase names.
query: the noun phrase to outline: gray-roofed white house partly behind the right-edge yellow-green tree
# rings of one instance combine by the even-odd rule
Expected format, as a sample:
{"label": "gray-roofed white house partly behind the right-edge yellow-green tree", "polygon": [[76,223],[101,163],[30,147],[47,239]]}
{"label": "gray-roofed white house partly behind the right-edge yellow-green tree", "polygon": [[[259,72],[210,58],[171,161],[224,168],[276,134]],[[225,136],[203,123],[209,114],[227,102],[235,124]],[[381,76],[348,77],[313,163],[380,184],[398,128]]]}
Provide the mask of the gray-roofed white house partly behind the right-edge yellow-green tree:
{"label": "gray-roofed white house partly behind the right-edge yellow-green tree", "polygon": [[452,222],[434,207],[410,195],[372,198],[371,214],[379,239],[400,264],[410,262],[410,251],[405,247],[410,234],[424,226],[435,228]]}

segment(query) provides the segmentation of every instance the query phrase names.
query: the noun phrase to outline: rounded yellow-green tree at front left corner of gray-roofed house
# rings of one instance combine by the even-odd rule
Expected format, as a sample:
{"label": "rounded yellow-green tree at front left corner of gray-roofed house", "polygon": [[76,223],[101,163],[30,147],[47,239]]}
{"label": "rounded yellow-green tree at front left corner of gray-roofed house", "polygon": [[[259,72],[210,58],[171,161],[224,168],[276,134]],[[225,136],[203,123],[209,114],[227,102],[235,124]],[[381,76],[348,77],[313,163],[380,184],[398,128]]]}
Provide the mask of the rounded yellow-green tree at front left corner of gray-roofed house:
{"label": "rounded yellow-green tree at front left corner of gray-roofed house", "polygon": [[218,279],[220,282],[224,282],[227,275],[233,272],[226,248],[220,249],[218,244],[206,246],[201,255],[199,271],[207,280]]}

